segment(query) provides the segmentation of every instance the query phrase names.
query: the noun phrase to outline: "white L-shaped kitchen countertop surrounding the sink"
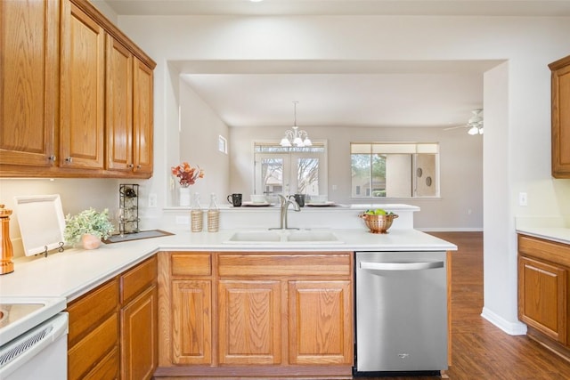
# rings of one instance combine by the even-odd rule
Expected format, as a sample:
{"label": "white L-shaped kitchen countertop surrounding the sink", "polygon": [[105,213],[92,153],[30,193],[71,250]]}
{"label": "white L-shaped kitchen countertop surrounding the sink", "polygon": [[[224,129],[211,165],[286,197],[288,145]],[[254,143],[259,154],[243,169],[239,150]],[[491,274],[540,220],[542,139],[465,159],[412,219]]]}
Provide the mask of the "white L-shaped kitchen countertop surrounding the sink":
{"label": "white L-shaped kitchen countertop surrounding the sink", "polygon": [[172,230],[175,235],[122,243],[102,244],[95,250],[67,249],[61,253],[20,257],[14,271],[0,276],[0,295],[61,296],[69,303],[101,285],[122,271],[140,263],[159,250],[185,251],[448,251],[457,250],[452,243],[419,230],[390,230],[372,234],[368,230],[330,230],[342,243],[275,242],[228,244],[225,241],[238,230],[192,233]]}

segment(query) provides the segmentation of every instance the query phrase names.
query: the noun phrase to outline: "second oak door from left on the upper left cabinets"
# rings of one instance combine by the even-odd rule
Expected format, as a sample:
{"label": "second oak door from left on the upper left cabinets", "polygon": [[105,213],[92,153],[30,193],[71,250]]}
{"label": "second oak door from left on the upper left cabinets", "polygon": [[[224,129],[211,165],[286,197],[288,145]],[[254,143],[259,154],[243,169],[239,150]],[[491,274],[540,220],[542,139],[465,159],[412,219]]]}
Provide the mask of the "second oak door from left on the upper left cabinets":
{"label": "second oak door from left on the upper left cabinets", "polygon": [[75,4],[62,4],[60,163],[102,169],[105,33]]}

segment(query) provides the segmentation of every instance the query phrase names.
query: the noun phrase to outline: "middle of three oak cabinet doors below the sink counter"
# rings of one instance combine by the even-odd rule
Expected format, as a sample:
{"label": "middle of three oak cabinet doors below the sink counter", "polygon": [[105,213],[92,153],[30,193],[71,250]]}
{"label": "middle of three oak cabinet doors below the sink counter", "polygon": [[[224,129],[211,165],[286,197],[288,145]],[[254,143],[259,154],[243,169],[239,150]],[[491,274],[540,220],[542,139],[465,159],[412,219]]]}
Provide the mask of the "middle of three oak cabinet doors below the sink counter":
{"label": "middle of three oak cabinet doors below the sink counter", "polygon": [[281,363],[281,281],[221,280],[220,364]]}

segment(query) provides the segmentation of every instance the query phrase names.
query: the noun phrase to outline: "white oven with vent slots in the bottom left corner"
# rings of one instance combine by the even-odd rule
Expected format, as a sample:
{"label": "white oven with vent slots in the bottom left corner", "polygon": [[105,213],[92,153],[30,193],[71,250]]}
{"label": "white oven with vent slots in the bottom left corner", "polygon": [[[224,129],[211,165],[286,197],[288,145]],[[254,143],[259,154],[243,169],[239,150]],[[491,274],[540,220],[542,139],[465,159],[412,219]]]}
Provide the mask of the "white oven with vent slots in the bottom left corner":
{"label": "white oven with vent slots in the bottom left corner", "polygon": [[63,298],[0,297],[1,379],[67,379],[65,305]]}

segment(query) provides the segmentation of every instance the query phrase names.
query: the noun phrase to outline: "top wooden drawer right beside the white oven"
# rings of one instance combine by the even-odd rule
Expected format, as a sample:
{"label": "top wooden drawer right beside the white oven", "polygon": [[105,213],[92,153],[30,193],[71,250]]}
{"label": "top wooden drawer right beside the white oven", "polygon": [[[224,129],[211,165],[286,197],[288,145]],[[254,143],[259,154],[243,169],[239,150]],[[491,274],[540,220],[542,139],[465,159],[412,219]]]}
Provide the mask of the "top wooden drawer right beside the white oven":
{"label": "top wooden drawer right beside the white oven", "polygon": [[117,312],[118,279],[112,279],[89,294],[79,298],[68,307],[69,347],[77,343],[89,331]]}

